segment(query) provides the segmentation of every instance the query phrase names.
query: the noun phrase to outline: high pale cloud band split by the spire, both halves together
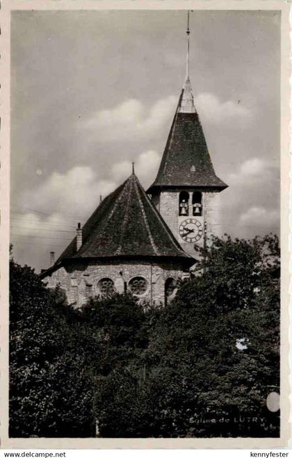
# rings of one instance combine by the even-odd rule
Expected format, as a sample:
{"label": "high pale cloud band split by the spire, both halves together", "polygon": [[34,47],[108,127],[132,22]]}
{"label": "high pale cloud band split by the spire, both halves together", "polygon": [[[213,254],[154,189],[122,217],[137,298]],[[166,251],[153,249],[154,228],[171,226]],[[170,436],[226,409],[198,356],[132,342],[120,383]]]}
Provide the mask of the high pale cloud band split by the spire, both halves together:
{"label": "high pale cloud band split by the spire, both halves together", "polygon": [[[99,142],[143,140],[156,135],[165,123],[170,124],[175,113],[177,97],[169,95],[146,108],[139,99],[127,99],[105,110],[92,113],[79,122]],[[215,95],[204,92],[195,97],[195,106],[204,122],[224,124],[248,122],[252,113],[239,101],[220,101]]]}

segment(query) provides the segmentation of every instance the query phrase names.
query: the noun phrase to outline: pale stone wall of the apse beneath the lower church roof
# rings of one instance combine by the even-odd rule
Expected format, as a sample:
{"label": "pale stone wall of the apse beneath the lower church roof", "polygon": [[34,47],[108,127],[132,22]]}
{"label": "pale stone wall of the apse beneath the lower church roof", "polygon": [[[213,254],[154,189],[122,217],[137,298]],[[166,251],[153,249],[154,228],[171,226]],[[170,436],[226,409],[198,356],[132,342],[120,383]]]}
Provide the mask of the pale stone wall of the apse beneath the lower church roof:
{"label": "pale stone wall of the apse beneath the lower church roof", "polygon": [[43,281],[49,288],[58,284],[67,294],[70,304],[82,306],[90,295],[99,295],[99,280],[109,278],[115,284],[115,290],[124,291],[124,282],[129,285],[133,277],[144,277],[147,280],[147,291],[138,296],[140,302],[159,304],[165,302],[165,281],[168,278],[175,280],[186,277],[180,263],[75,263],[60,267]]}

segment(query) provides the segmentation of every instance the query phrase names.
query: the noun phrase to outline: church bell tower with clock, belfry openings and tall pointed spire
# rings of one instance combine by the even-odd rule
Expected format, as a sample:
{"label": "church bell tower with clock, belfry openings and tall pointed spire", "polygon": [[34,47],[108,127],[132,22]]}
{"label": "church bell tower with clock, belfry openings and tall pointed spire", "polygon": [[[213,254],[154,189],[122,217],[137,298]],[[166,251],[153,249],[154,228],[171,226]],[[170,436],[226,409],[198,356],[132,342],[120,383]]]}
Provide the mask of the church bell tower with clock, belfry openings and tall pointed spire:
{"label": "church bell tower with clock, belfry openings and tall pointed spire", "polygon": [[211,234],[218,234],[219,193],[227,188],[213,169],[190,84],[189,13],[186,80],[157,177],[147,190],[185,252],[197,257]]}

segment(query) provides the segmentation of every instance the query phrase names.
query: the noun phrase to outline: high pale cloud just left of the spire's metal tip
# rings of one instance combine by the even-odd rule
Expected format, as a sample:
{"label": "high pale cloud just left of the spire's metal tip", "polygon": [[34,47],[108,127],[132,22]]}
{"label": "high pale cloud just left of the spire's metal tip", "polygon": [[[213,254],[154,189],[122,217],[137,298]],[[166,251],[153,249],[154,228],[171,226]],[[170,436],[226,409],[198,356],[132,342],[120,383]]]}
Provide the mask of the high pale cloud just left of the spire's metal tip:
{"label": "high pale cloud just left of the spire's metal tip", "polygon": [[170,95],[147,109],[142,101],[127,99],[111,109],[92,113],[78,126],[101,142],[150,138],[170,122],[176,103],[177,97]]}

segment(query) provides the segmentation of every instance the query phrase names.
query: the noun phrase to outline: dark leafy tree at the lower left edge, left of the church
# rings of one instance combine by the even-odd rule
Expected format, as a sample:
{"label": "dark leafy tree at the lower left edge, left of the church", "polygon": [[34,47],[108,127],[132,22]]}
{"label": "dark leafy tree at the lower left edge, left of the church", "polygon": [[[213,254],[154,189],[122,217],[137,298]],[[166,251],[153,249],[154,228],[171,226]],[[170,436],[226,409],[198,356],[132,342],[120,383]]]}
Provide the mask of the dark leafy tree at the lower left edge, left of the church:
{"label": "dark leafy tree at the lower left edge, left of the church", "polygon": [[59,288],[10,261],[10,436],[95,432],[86,358]]}

